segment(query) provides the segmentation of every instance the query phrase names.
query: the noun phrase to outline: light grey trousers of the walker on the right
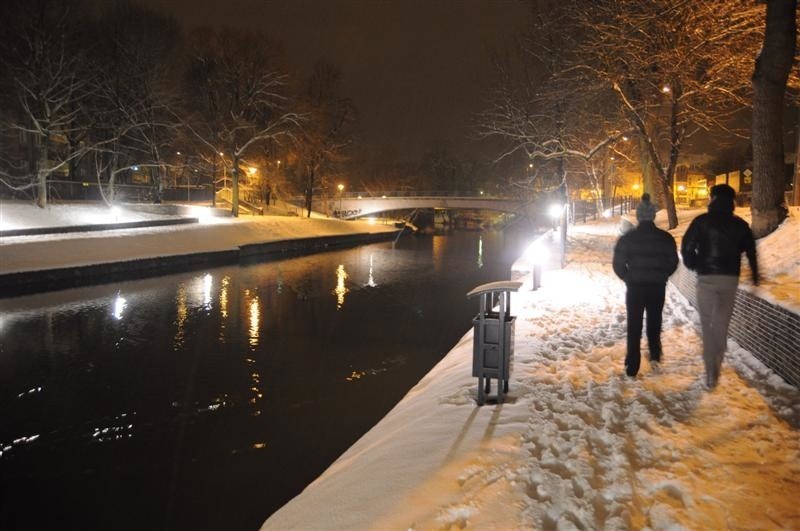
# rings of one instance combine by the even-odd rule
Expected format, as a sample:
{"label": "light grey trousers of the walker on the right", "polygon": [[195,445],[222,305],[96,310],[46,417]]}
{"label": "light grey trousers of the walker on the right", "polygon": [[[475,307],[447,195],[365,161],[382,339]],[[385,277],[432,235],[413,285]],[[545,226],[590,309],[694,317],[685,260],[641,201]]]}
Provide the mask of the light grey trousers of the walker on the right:
{"label": "light grey trousers of the walker on the right", "polygon": [[697,277],[697,309],[703,329],[703,362],[709,387],[717,385],[719,380],[738,285],[739,277],[730,275]]}

